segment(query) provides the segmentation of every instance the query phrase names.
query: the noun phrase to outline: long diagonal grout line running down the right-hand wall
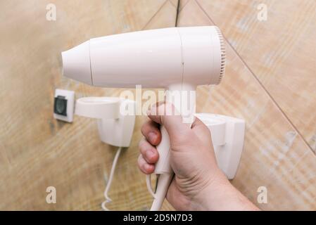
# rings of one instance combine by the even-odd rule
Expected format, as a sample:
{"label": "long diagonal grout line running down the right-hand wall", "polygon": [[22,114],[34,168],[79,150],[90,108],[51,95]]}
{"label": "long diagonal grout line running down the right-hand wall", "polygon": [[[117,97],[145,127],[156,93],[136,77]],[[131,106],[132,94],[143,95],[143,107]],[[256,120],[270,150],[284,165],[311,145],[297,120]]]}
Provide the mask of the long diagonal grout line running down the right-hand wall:
{"label": "long diagonal grout line running down the right-hand wall", "polygon": [[[206,11],[204,10],[204,8],[198,3],[197,0],[196,4],[198,4],[198,7],[201,8],[201,10],[203,11],[203,13],[206,14],[206,16],[208,17],[208,19],[214,24],[214,21],[212,20],[212,18],[210,18],[210,16],[208,15],[208,13],[206,13]],[[282,113],[282,115],[286,118],[286,120],[288,120],[288,122],[291,124],[291,126],[293,127],[293,129],[295,129],[295,131],[298,133],[298,136],[301,136],[301,139],[303,139],[303,142],[308,146],[308,148],[310,148],[310,150],[312,151],[312,153],[314,153],[314,155],[316,155],[316,153],[314,152],[314,150],[312,149],[312,147],[309,145],[309,143],[305,140],[305,138],[303,137],[303,135],[301,134],[300,131],[298,131],[298,129],[296,128],[296,126],[293,124],[293,122],[291,122],[291,120],[289,119],[289,117],[286,115],[286,113],[284,113],[284,111],[282,110],[282,108],[279,106],[279,104],[277,103],[277,101],[274,100],[274,98],[272,97],[272,95],[269,93],[269,91],[267,91],[267,89],[265,88],[265,86],[263,85],[263,83],[260,82],[260,79],[258,79],[258,77],[255,75],[255,73],[253,72],[253,70],[251,70],[251,68],[249,68],[249,66],[247,65],[247,63],[244,61],[243,58],[241,58],[241,56],[239,55],[239,53],[236,51],[236,49],[234,49],[234,47],[232,46],[232,44],[230,44],[230,42],[227,40],[227,38],[225,37],[224,34],[222,34],[222,36],[224,37],[224,39],[226,40],[227,44],[229,44],[229,46],[233,49],[234,53],[236,53],[236,55],[239,57],[239,59],[241,60],[242,63],[244,63],[244,65],[246,66],[246,68],[251,72],[251,75],[253,75],[253,77],[255,78],[255,80],[258,82],[258,84],[263,88],[263,90],[265,91],[265,93],[267,94],[267,96],[269,96],[272,100],[272,102],[274,103],[274,105],[277,106],[277,108],[280,110],[280,112]]]}

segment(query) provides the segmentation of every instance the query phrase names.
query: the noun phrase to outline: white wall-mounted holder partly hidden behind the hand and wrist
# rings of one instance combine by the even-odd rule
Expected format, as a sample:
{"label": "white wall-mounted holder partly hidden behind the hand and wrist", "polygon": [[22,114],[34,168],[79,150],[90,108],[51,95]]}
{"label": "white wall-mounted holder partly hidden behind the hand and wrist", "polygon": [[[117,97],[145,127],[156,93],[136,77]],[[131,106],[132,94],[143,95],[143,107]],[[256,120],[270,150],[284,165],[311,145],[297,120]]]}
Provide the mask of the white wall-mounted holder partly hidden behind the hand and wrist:
{"label": "white wall-mounted holder partly hidden behind the hand and wrist", "polygon": [[228,179],[234,179],[244,148],[245,121],[210,113],[196,117],[210,129],[217,165]]}

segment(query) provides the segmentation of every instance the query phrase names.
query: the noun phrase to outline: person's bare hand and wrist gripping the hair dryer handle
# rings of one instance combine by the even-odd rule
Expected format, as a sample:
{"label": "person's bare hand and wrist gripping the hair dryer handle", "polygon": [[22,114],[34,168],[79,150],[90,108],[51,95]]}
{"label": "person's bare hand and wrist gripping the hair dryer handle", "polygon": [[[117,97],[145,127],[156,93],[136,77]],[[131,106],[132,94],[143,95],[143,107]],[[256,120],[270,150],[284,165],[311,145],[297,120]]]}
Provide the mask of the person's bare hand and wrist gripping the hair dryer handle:
{"label": "person's bare hand and wrist gripping the hair dryer handle", "polygon": [[170,136],[171,167],[175,172],[167,193],[176,210],[258,210],[227,180],[217,167],[210,131],[196,118],[191,128],[179,115],[164,115],[173,105],[161,103],[148,111],[148,120],[141,127],[144,135],[139,143],[138,165],[151,174],[159,155],[160,124]]}

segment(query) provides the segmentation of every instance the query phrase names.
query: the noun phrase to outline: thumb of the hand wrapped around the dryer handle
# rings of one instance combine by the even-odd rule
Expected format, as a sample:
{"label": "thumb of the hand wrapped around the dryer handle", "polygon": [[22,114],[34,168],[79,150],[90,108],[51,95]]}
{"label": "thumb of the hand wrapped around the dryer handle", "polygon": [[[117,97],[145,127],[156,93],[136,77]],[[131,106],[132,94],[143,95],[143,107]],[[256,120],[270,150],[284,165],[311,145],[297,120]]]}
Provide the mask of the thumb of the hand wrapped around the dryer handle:
{"label": "thumb of the hand wrapped around the dryer handle", "polygon": [[182,116],[171,103],[157,103],[147,112],[148,117],[168,131],[170,141],[191,131],[190,124],[182,122]]}

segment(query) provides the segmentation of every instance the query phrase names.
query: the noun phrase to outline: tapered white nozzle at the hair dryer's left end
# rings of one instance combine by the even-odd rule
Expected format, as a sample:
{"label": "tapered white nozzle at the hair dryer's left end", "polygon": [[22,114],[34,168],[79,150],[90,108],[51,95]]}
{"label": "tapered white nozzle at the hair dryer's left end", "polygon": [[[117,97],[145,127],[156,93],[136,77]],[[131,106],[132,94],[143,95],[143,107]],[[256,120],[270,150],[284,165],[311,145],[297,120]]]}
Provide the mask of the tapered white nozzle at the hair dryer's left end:
{"label": "tapered white nozzle at the hair dryer's left end", "polygon": [[79,82],[92,85],[90,66],[90,41],[73,49],[63,51],[63,75]]}

